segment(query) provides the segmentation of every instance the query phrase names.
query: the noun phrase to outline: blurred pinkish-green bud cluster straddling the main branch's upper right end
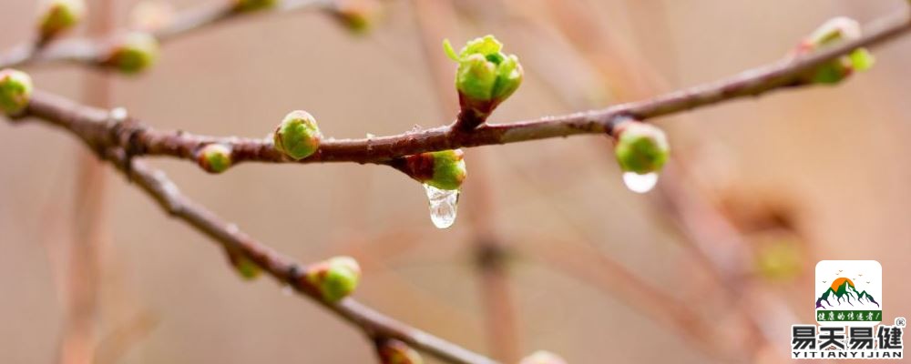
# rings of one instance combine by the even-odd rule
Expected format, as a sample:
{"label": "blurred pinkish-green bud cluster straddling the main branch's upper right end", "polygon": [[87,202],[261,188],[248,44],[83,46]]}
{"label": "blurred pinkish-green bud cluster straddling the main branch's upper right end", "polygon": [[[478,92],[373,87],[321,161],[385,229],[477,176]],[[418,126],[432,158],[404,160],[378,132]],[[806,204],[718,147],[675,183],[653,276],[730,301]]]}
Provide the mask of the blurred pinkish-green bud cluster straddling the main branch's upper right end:
{"label": "blurred pinkish-green bud cluster straddling the main branch's upper right end", "polygon": [[[860,24],[844,16],[835,17],[820,25],[813,34],[804,39],[795,52],[798,56],[813,53],[827,46],[840,42],[855,40],[861,37]],[[805,82],[817,84],[836,84],[855,71],[865,71],[872,67],[875,58],[866,48],[857,48],[847,56],[841,56],[816,67]]]}

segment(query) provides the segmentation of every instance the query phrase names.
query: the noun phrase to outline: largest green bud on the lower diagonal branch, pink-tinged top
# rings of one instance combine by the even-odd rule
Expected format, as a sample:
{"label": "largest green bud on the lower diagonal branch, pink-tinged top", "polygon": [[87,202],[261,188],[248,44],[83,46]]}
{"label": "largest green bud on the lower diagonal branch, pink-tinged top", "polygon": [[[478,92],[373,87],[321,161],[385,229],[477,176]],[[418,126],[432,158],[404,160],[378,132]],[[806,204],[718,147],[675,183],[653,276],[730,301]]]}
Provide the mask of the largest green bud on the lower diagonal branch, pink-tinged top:
{"label": "largest green bud on the lower diagonal branch, pink-tinged top", "polygon": [[361,279],[361,267],[351,257],[335,257],[312,265],[304,275],[323,300],[335,303],[348,297]]}

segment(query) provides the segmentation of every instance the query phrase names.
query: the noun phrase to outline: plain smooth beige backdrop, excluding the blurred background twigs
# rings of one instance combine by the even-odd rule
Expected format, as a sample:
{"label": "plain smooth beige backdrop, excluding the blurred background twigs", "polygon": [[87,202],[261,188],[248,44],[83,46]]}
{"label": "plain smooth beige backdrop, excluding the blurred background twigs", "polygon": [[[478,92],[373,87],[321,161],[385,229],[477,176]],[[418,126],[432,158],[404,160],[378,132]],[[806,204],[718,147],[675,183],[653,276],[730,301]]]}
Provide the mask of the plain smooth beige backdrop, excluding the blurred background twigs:
{"label": "plain smooth beige backdrop, excluding the blurred background twigs", "polygon": [[[604,31],[643,55],[643,62],[670,80],[670,88],[772,61],[828,17],[868,21],[902,11],[905,3],[573,1],[597,9]],[[202,2],[172,3],[182,9]],[[122,19],[134,2],[117,3]],[[463,16],[472,16],[466,8],[480,6],[507,20],[463,18],[461,34],[449,35],[455,44],[496,32],[526,65],[525,83],[494,121],[567,113],[591,97],[606,105],[607,98],[597,97],[607,88],[556,45],[539,56],[540,39],[520,22],[508,21],[518,17],[510,13],[515,4],[458,3]],[[115,104],[152,126],[214,135],[264,136],[295,108],[310,111],[323,133],[335,137],[445,124],[452,116],[435,95],[413,5],[384,4],[384,21],[366,36],[349,35],[322,14],[296,13],[177,39],[164,46],[159,65],[147,75],[115,77]],[[31,35],[35,7],[32,0],[0,2],[0,46]],[[911,314],[904,282],[911,274],[906,261],[911,144],[905,142],[911,135],[906,100],[911,39],[877,48],[875,55],[873,70],[842,86],[785,91],[658,121],[678,150],[708,145],[709,160],[726,160],[738,198],[773,201],[793,211],[804,237],[803,275],[760,284],[803,322],[813,319],[813,266],[823,258],[879,260],[885,318]],[[561,62],[568,68],[565,76]],[[88,73],[77,66],[32,72],[38,87],[77,99]],[[554,77],[570,86],[553,86]],[[66,294],[55,277],[67,273],[54,257],[66,257],[60,251],[70,244],[71,221],[80,213],[73,202],[80,148],[71,136],[47,126],[0,123],[0,362],[56,358]],[[485,170],[471,169],[472,157],[481,154]],[[692,258],[660,209],[624,189],[607,139],[484,147],[472,150],[467,162],[472,177],[488,178],[496,211],[484,218],[517,248],[509,272],[522,351],[550,349],[573,363],[716,360],[609,288],[570,278],[523,254],[532,244],[595,244],[654,287],[700,307],[694,295],[704,275],[691,272]],[[479,202],[472,177],[455,227],[437,230],[421,187],[391,168],[248,164],[213,177],[182,161],[153,163],[189,197],[302,261],[336,254],[368,261],[370,249],[404,247],[364,264],[356,297],[489,352],[466,217]],[[700,174],[707,165],[691,167]],[[138,317],[155,322],[116,362],[374,362],[359,331],[311,302],[282,294],[269,279],[241,281],[206,238],[169,219],[120,176],[108,177],[97,332],[107,337]],[[773,329],[788,337],[788,325]],[[780,352],[769,359],[785,361],[787,343],[776,345]]]}

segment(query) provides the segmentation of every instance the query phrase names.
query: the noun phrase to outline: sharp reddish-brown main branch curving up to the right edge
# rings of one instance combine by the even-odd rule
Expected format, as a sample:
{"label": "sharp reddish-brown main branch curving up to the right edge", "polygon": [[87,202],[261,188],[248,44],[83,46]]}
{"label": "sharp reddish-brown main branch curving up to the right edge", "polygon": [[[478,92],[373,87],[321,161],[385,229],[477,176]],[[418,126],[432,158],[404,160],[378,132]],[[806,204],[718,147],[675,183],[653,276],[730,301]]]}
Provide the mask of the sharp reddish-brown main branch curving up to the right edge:
{"label": "sharp reddish-brown main branch curving up to the right edge", "polygon": [[[319,149],[300,162],[357,162],[388,164],[396,157],[428,151],[517,143],[580,134],[612,134],[613,126],[627,117],[646,120],[710,106],[745,96],[760,96],[781,88],[803,86],[801,76],[852,50],[884,43],[911,30],[905,13],[888,15],[870,25],[865,35],[824,49],[810,56],[786,57],[769,66],[744,71],[720,81],[684,88],[648,100],[620,104],[600,110],[535,120],[478,126],[471,131],[439,126],[396,136],[324,140]],[[233,163],[259,161],[292,162],[275,150],[271,140],[236,136],[198,136],[182,131],[159,131],[137,120],[113,124],[107,112],[81,106],[59,96],[36,92],[27,115],[40,117],[73,129],[93,144],[122,147],[136,155],[161,155],[195,159],[200,147],[212,143],[229,146]]]}

